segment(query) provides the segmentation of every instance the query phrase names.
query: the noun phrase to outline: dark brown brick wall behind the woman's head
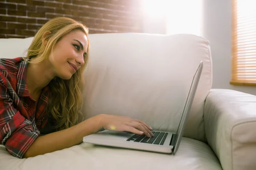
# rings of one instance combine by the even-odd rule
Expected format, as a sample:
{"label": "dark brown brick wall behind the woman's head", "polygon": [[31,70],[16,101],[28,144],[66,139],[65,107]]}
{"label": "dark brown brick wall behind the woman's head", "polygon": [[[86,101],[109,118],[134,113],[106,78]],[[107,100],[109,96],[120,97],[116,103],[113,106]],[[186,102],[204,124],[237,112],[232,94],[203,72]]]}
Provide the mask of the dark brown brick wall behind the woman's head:
{"label": "dark brown brick wall behind the woman's head", "polygon": [[35,35],[49,19],[70,17],[90,34],[142,32],[140,0],[0,0],[0,38]]}

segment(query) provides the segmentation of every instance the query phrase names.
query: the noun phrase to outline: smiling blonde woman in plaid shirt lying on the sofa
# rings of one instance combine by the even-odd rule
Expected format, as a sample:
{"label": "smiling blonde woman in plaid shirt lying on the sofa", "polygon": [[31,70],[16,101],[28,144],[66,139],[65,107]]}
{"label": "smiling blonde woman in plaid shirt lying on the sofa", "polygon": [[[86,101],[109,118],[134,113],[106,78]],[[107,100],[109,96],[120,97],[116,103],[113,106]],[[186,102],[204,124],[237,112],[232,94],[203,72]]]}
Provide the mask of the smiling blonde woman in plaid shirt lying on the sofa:
{"label": "smiling blonde woman in plaid shirt lying on the sofa", "polygon": [[13,156],[71,147],[102,128],[153,136],[150,126],[129,117],[99,114],[79,122],[88,48],[88,29],[58,17],[37,32],[26,57],[0,59],[0,142]]}

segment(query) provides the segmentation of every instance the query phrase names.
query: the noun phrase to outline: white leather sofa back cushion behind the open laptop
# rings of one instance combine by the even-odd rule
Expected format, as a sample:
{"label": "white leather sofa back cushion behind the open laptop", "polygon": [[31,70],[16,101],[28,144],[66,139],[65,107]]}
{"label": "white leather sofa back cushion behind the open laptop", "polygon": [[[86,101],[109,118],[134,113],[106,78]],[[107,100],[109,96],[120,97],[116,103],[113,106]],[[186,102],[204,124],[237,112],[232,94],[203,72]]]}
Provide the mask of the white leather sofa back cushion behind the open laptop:
{"label": "white leather sofa back cushion behind the open laptop", "polygon": [[176,131],[200,61],[204,62],[184,136],[206,142],[204,101],[212,86],[208,41],[194,35],[92,34],[85,71],[85,118],[129,115]]}

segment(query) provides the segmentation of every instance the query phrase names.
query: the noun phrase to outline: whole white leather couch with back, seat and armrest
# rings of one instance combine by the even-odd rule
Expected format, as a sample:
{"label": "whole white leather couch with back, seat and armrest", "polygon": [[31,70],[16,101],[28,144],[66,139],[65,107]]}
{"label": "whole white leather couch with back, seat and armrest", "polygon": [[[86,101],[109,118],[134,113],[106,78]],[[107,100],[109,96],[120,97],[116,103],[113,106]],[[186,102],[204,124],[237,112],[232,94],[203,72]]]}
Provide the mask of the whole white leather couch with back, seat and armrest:
{"label": "whole white leather couch with back, seat and armrest", "polygon": [[[31,41],[0,39],[0,57],[24,55]],[[211,51],[202,37],[91,34],[84,116],[127,115],[175,132],[201,60],[202,76],[175,155],[81,143],[18,159],[2,145],[0,170],[256,170],[256,96],[212,89]]]}

